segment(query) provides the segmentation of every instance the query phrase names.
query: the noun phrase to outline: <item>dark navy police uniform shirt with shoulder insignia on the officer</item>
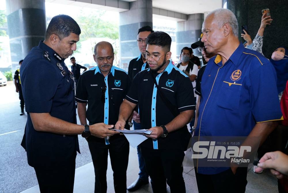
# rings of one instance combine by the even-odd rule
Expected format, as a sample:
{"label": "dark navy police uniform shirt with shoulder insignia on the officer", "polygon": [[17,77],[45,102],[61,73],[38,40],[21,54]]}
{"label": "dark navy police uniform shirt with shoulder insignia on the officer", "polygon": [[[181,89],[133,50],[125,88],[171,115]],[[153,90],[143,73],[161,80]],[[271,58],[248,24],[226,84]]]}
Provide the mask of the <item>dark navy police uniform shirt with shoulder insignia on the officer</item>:
{"label": "dark navy police uniform shirt with shoulder insignia on the officer", "polygon": [[[50,113],[76,123],[73,76],[62,59],[43,41],[25,57],[20,71],[23,96],[28,113],[22,146],[33,167],[65,164],[79,152],[77,135],[58,135],[34,129],[29,113]],[[43,164],[42,164],[43,163]]]}

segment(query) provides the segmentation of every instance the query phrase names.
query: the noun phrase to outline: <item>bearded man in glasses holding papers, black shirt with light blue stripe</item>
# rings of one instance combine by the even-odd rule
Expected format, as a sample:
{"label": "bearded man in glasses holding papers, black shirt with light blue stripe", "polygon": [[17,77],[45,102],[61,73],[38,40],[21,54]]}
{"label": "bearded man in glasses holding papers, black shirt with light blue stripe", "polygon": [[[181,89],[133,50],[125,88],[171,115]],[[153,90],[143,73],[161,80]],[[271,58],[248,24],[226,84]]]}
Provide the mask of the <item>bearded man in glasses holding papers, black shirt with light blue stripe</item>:
{"label": "bearded man in glasses holding papers, black shirt with light blue stripe", "polygon": [[[166,182],[171,193],[185,192],[182,162],[191,138],[186,124],[195,110],[191,81],[169,60],[170,46],[167,33],[148,35],[145,58],[149,69],[134,77],[115,124],[116,129],[124,129],[139,106],[141,128],[152,131],[140,148],[155,193],[166,192]],[[170,101],[169,107],[160,92]]]}

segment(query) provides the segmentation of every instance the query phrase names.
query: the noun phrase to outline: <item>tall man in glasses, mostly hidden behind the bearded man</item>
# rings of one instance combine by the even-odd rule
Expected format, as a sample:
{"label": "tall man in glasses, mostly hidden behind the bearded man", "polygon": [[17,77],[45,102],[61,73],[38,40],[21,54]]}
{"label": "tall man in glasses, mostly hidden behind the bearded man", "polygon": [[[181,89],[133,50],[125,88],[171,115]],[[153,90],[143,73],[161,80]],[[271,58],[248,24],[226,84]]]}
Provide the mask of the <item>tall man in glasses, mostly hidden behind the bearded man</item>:
{"label": "tall man in glasses, mostly hidden behind the bearded man", "polygon": [[[138,35],[137,35],[137,44],[138,48],[140,51],[140,54],[138,57],[132,59],[129,63],[128,66],[128,75],[131,79],[133,80],[134,76],[148,68],[148,64],[146,63],[146,58],[144,57],[143,54],[146,53],[146,39],[147,36],[154,32],[150,26],[144,26],[138,29]],[[133,123],[130,124],[131,126],[134,125],[134,130],[139,130],[141,129],[140,125],[140,116],[138,113],[138,107],[135,107],[133,111]],[[137,154],[138,154],[138,162],[139,162],[139,177],[134,181],[128,188],[128,191],[136,191],[138,190],[141,186],[149,183],[148,181],[148,173],[145,168],[145,162],[142,156],[142,153],[140,151],[140,146],[137,146]]]}

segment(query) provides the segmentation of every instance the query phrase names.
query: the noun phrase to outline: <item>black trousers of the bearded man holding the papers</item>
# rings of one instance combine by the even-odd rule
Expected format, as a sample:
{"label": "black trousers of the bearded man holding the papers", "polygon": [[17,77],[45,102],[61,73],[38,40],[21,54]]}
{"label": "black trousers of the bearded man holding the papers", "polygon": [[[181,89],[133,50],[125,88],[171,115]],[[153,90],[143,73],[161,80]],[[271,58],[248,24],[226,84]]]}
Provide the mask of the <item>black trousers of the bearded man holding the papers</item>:
{"label": "black trousers of the bearded man holding the papers", "polygon": [[140,147],[154,193],[166,193],[166,181],[171,193],[183,193],[183,150],[154,150]]}

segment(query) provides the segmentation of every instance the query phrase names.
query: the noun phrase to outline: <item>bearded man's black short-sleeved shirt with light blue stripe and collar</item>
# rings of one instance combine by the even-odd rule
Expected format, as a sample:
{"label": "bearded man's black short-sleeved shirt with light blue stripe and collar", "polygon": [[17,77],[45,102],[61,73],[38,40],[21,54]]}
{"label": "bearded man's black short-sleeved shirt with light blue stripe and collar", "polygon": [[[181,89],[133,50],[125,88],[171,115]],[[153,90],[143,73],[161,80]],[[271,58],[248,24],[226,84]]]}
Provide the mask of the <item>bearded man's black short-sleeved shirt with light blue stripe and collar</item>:
{"label": "bearded man's black short-sleeved shirt with light blue stripe and collar", "polygon": [[[165,125],[175,118],[157,92],[151,74],[156,78],[166,98],[178,108],[179,112],[195,110],[193,88],[187,75],[171,62],[162,73],[151,73],[150,69],[145,69],[134,77],[125,98],[131,103],[138,104],[142,129]],[[185,126],[168,133],[166,138],[160,137],[155,140],[149,138],[143,141],[141,146],[151,149],[184,149],[183,142],[189,135]]]}

